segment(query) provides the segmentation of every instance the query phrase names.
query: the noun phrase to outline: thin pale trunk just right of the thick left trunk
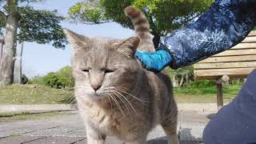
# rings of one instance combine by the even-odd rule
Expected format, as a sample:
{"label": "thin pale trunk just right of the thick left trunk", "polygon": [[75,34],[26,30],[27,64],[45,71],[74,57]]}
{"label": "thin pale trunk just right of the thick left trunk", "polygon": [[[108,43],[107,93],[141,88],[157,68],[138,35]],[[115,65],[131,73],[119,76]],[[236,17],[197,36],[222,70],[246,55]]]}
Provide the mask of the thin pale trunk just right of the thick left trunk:
{"label": "thin pale trunk just right of the thick left trunk", "polygon": [[14,63],[14,83],[22,83],[22,51],[23,42],[16,52],[16,61]]}

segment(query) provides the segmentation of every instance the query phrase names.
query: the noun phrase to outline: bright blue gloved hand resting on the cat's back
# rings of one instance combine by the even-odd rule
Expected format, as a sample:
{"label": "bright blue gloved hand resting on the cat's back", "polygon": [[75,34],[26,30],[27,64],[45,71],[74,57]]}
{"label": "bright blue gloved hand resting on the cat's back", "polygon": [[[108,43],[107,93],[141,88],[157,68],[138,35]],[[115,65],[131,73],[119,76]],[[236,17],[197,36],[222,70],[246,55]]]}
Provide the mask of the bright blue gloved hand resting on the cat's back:
{"label": "bright blue gloved hand resting on the cat's back", "polygon": [[142,62],[142,66],[146,70],[154,73],[160,72],[172,62],[172,58],[166,50],[157,50],[153,53],[136,51],[135,57]]}

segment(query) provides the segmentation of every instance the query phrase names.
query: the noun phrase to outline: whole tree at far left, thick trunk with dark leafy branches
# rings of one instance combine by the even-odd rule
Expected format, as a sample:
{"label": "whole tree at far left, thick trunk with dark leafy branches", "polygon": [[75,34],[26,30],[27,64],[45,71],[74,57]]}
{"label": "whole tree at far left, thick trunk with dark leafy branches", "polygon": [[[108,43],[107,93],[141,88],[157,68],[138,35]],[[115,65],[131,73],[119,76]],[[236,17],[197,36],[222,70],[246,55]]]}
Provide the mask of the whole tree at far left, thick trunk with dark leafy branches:
{"label": "whole tree at far left, thick trunk with dark leafy branches", "polygon": [[[30,6],[40,0],[0,0],[0,34],[4,34],[4,46],[0,60],[0,86],[14,80],[16,43],[52,42],[56,48],[64,48],[66,37],[59,23],[64,19],[57,11],[34,10]],[[0,44],[1,48],[1,44]]]}

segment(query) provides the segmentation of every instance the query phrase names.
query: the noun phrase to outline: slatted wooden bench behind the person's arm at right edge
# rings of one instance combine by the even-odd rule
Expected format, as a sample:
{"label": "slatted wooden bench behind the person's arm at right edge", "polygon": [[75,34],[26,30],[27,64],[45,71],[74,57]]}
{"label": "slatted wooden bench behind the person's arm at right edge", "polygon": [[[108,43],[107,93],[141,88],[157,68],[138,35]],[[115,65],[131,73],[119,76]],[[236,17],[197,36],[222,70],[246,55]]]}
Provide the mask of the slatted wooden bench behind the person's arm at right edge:
{"label": "slatted wooden bench behind the person's arm at right edge", "polygon": [[215,79],[218,110],[223,106],[222,83],[230,78],[246,78],[256,68],[256,30],[237,46],[194,64],[194,78]]}

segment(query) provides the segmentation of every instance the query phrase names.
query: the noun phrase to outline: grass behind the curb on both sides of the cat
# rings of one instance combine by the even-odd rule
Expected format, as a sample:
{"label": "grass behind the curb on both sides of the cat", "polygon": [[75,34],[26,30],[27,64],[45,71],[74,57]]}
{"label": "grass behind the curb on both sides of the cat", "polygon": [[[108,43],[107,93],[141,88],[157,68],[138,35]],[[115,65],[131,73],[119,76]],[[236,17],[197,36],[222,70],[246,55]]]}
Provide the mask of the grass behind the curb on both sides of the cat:
{"label": "grass behind the curb on both sides of the cat", "polygon": [[[241,84],[224,86],[224,102],[231,102],[241,89]],[[177,102],[216,102],[216,86],[174,89]],[[70,99],[71,98],[71,99]],[[1,104],[62,104],[70,103],[74,90],[54,89],[41,85],[11,85],[0,87]]]}

